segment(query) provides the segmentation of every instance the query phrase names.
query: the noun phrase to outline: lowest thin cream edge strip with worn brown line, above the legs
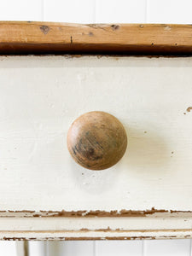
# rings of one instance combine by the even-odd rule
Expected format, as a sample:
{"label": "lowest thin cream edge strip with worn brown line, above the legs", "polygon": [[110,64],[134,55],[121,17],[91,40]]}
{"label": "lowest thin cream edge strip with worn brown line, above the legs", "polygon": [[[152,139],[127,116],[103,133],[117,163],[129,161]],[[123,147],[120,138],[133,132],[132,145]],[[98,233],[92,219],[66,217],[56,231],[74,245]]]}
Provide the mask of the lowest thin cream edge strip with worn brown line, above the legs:
{"label": "lowest thin cream edge strip with worn brown line, above the legs", "polygon": [[[78,230],[73,235],[67,234],[66,231],[0,231],[0,240],[4,241],[70,241],[70,240],[143,240],[143,239],[190,239],[192,238],[192,230],[127,230],[125,233],[111,234],[100,232],[100,234],[90,236],[90,232],[96,235],[95,230],[81,233]],[[71,232],[70,232],[71,233]],[[16,236],[15,236],[16,235]]]}

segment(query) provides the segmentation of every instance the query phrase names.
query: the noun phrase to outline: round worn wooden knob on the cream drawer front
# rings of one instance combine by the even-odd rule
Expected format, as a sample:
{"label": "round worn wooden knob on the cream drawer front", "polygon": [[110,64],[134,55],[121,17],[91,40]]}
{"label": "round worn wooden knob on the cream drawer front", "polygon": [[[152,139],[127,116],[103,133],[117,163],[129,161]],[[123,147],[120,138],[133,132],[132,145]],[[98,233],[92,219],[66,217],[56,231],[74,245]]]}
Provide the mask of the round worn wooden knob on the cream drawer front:
{"label": "round worn wooden knob on the cream drawer front", "polygon": [[67,147],[73,159],[90,170],[115,165],[125,154],[126,146],[123,125],[113,115],[101,111],[81,115],[67,134]]}

